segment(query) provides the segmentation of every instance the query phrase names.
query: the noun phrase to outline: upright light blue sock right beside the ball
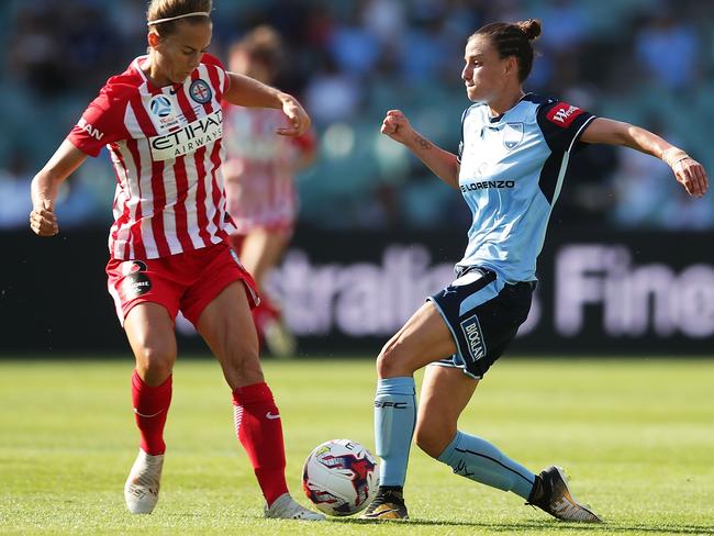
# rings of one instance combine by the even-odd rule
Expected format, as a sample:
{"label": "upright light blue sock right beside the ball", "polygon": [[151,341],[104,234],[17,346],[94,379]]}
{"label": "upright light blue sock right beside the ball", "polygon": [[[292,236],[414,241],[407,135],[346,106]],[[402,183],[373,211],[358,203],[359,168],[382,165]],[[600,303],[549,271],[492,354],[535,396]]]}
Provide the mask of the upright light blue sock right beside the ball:
{"label": "upright light blue sock right beside the ball", "polygon": [[416,425],[414,378],[384,378],[375,397],[375,443],[380,485],[404,485],[409,449]]}

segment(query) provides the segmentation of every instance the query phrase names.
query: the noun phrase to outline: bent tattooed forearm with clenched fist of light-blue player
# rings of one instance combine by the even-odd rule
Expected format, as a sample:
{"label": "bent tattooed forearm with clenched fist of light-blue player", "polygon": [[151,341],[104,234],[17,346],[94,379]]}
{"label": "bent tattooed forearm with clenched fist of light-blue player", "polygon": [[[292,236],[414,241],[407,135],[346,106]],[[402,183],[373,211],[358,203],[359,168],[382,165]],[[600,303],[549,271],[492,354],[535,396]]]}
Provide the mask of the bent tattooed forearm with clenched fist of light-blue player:
{"label": "bent tattooed forearm with clenched fist of light-blue player", "polygon": [[408,147],[434,174],[451,188],[459,188],[459,163],[454,153],[444,150],[416,132],[400,110],[390,110],[381,133]]}

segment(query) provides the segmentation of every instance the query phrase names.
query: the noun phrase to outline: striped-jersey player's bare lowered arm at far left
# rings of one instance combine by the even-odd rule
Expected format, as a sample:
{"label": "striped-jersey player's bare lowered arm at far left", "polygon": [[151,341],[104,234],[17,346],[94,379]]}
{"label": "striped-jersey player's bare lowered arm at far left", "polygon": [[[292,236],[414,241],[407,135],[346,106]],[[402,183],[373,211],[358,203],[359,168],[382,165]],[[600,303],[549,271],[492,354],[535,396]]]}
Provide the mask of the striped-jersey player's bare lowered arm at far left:
{"label": "striped-jersey player's bare lowered arm at far left", "polygon": [[40,236],[53,236],[59,232],[54,212],[59,185],[87,159],[87,154],[65,139],[45,167],[32,179],[32,212],[30,227]]}

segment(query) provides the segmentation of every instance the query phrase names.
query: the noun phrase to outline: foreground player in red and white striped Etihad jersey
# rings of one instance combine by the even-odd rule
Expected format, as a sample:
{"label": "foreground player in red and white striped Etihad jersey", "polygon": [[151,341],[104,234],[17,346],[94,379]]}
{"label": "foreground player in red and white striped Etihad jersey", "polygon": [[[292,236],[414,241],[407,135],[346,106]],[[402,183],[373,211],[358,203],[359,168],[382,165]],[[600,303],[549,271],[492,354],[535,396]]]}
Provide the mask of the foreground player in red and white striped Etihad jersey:
{"label": "foreground player in red and white striped Etihad jersey", "polygon": [[124,498],[150,513],[164,464],[164,425],[177,357],[178,311],[193,323],[233,391],[235,429],[264,493],[267,517],[322,520],[288,493],[280,413],[258,360],[250,308],[255,284],[226,241],[221,166],[222,102],[281,110],[298,136],[310,118],[291,96],[227,72],[205,54],[211,0],[153,0],[148,54],[109,79],[99,97],[32,182],[32,230],[58,233],[53,211],[59,183],[109,148],[116,171],[109,237],[109,292],[136,358],[132,401],[140,450]]}

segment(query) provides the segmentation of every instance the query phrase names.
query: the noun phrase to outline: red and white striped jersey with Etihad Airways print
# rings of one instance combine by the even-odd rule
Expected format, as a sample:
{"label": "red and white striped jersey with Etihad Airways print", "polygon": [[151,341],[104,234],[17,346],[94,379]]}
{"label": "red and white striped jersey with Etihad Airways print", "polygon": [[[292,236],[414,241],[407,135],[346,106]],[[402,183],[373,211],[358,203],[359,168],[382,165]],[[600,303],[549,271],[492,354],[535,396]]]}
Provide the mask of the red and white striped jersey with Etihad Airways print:
{"label": "red and white striped jersey with Etihad Airways print", "polygon": [[141,56],[110,78],[67,138],[90,156],[109,148],[116,171],[115,259],[158,258],[217,244],[233,232],[225,211],[221,99],[230,83],[203,55],[182,83],[158,88]]}

